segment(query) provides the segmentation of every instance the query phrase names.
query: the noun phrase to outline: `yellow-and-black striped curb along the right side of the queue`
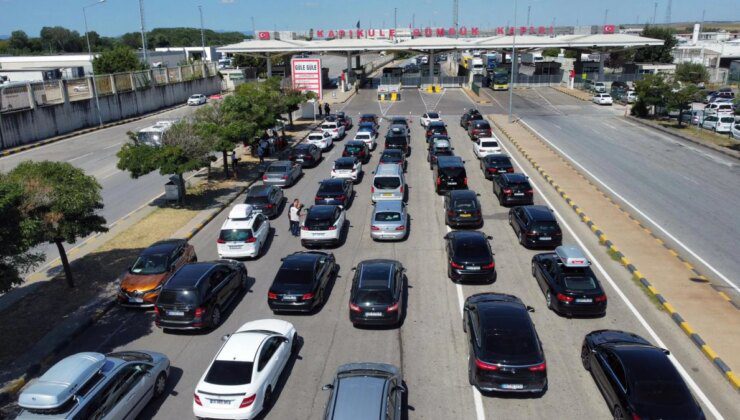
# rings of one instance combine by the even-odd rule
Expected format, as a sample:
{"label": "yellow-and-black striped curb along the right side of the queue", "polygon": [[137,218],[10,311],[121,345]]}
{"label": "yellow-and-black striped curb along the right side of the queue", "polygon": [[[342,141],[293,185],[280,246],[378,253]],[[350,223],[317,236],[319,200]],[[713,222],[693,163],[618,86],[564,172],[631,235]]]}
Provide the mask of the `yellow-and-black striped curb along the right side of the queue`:
{"label": "yellow-and-black striped curb along the right side of the queue", "polygon": [[[519,145],[519,143],[509,134],[509,132],[504,129],[503,127],[499,126],[498,124],[495,124],[493,121],[491,121],[491,124],[495,125],[499,130],[501,130],[502,133],[508,138],[508,140],[516,147],[516,149],[524,156],[525,159],[532,165],[534,169],[539,172],[539,174],[547,181],[548,184],[550,184],[555,191],[557,191],[558,195],[562,197],[565,202],[568,204],[568,206],[578,215],[581,222],[586,224],[589,229],[591,229],[591,232],[596,235],[596,237],[599,239],[599,243],[603,245],[607,251],[612,255],[629,273],[632,275],[632,277],[637,280],[643,289],[645,289],[650,295],[652,295],[657,301],[660,303],[661,307],[670,315],[671,319],[676,323],[676,325],[681,328],[681,331],[686,334],[691,341],[696,345],[699,350],[701,350],[702,354],[707,357],[712,363],[714,363],[715,367],[722,373],[722,375],[727,379],[730,384],[735,388],[735,390],[740,390],[740,377],[738,377],[727,364],[717,355],[717,353],[701,338],[701,336],[694,330],[691,325],[689,325],[688,322],[686,322],[683,317],[678,313],[676,308],[671,305],[668,300],[666,300],[662,294],[650,283],[648,279],[646,279],[642,273],[635,267],[619,249],[612,243],[611,240],[608,239],[606,234],[588,217],[586,216],[586,213],[583,212],[583,210],[570,198],[568,197],[568,194],[555,182],[552,176],[547,174],[544,169],[540,165],[537,164],[536,161],[532,159],[531,156],[524,150],[524,148]],[[530,131],[526,126],[522,126],[527,131]],[[531,131],[530,131],[531,132]],[[532,133],[535,138],[537,138],[537,135]]]}

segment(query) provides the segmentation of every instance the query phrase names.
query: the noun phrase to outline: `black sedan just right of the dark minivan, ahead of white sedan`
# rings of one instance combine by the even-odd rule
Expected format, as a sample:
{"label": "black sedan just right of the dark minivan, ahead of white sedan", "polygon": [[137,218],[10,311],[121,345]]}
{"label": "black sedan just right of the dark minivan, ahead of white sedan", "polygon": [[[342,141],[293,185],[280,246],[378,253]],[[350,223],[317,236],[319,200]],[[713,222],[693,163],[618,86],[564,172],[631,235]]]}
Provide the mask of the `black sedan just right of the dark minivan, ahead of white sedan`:
{"label": "black sedan just right of the dark minivan, ahead of white sedan", "polygon": [[327,290],[339,272],[334,254],[296,252],[282,259],[267,292],[267,305],[277,312],[311,312],[326,302]]}

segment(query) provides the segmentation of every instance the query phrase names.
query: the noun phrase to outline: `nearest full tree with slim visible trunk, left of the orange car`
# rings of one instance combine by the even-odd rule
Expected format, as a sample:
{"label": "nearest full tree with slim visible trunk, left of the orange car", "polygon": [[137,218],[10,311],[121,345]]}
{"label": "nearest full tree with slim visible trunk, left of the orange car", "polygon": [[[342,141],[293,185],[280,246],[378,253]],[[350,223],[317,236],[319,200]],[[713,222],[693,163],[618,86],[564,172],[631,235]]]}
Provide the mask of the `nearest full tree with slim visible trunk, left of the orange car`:
{"label": "nearest full tree with slim visible trunk, left of the orange car", "polygon": [[64,243],[108,231],[105,218],[97,214],[103,208],[102,187],[95,177],[67,162],[25,161],[10,171],[8,178],[22,187],[33,243],[57,246],[67,284],[74,287]]}

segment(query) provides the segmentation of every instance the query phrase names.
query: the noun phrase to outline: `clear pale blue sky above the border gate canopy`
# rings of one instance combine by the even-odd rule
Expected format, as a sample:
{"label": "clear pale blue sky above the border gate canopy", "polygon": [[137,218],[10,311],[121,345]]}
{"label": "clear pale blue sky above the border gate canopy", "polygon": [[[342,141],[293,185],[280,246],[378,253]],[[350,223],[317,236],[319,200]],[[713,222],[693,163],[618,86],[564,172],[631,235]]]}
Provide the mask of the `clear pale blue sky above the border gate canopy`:
{"label": "clear pale blue sky above the border gate canopy", "polygon": [[[44,26],[84,32],[83,6],[95,0],[0,0],[0,34],[21,29],[38,36]],[[459,0],[460,26],[480,28],[514,24],[513,0]],[[644,23],[653,19],[653,0],[518,0],[517,24],[601,25]],[[657,1],[657,22],[666,17],[668,0]],[[450,26],[452,0],[144,0],[148,29],[198,27],[198,6],[204,26],[215,30],[250,31],[252,17],[259,30],[350,29],[390,27],[397,8],[399,27]],[[607,10],[608,9],[608,10]],[[87,10],[90,30],[106,36],[138,31],[138,0],[106,0]],[[671,21],[705,19],[740,21],[740,0],[673,0]],[[385,24],[385,25],[383,25]]]}

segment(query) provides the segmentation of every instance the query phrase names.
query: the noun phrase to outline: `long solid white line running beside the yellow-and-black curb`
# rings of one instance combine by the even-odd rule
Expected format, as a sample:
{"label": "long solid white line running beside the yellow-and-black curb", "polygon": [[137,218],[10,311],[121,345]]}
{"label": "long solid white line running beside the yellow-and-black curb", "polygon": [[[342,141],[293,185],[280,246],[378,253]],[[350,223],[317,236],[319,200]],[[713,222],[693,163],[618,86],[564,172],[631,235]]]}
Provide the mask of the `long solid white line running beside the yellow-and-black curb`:
{"label": "long solid white line running beside the yellow-and-black curb", "polygon": [[[524,123],[524,121],[522,122]],[[534,178],[530,176],[529,172],[526,169],[524,169],[524,166],[519,163],[519,161],[514,157],[514,155],[511,152],[509,152],[508,148],[504,144],[501,144],[501,146],[504,148],[504,150],[506,150],[506,153],[509,155],[509,157],[511,157],[514,160],[514,163],[516,163],[517,166],[521,168],[522,172],[524,172],[524,174],[529,177],[529,180],[532,182],[532,186],[540,194],[540,197],[542,197],[545,203],[547,203],[547,205],[553,210],[555,215],[557,215],[558,219],[560,219],[560,223],[563,226],[565,226],[565,228],[573,236],[576,242],[578,242],[578,245],[586,253],[586,256],[588,256],[588,258],[591,260],[593,265],[596,266],[596,268],[599,270],[603,278],[607,280],[607,282],[612,287],[612,289],[614,289],[614,291],[617,293],[620,299],[622,299],[622,302],[624,302],[625,306],[627,306],[630,312],[632,312],[632,315],[634,315],[635,318],[637,318],[637,321],[640,323],[640,325],[642,325],[642,327],[645,328],[648,334],[650,334],[650,336],[653,338],[653,341],[655,341],[655,344],[658,345],[659,347],[667,349],[668,347],[665,345],[663,340],[660,339],[660,337],[655,332],[655,330],[653,330],[653,328],[650,326],[650,324],[648,324],[645,318],[642,317],[640,312],[637,310],[637,308],[635,308],[635,306],[632,304],[629,298],[627,298],[627,296],[622,292],[619,286],[617,286],[617,283],[614,281],[614,279],[612,279],[609,273],[606,272],[606,270],[601,265],[601,263],[594,257],[591,251],[588,248],[586,248],[586,245],[584,245],[581,239],[576,235],[575,231],[573,231],[573,229],[570,227],[568,222],[566,222],[565,219],[563,219],[562,215],[560,215],[560,213],[555,209],[555,207],[552,205],[550,200],[542,193],[542,190],[540,189],[540,187],[537,185],[536,182],[534,182]],[[672,354],[669,355],[668,358],[671,360],[671,363],[673,363],[673,366],[676,367],[676,369],[681,374],[681,376],[684,378],[684,380],[688,383],[689,387],[691,387],[691,390],[694,391],[694,394],[696,394],[699,397],[699,399],[704,403],[704,405],[706,405],[706,407],[709,409],[712,415],[719,420],[724,419],[724,417],[722,417],[722,414],[720,414],[720,412],[717,410],[714,404],[712,404],[712,402],[709,401],[709,398],[699,388],[696,382],[694,382],[691,376],[689,376],[689,373],[686,371],[686,369],[684,369],[681,363],[679,363],[679,361],[676,360],[676,358]]]}

